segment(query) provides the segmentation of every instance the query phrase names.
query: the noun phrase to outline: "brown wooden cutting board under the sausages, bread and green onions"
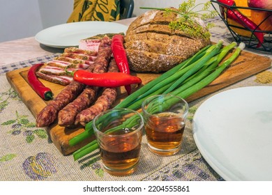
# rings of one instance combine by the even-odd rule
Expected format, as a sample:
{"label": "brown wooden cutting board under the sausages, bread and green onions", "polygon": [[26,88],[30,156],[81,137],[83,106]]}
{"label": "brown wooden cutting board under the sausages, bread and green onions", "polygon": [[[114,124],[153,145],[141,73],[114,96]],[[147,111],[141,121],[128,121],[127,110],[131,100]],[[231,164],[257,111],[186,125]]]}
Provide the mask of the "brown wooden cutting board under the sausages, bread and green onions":
{"label": "brown wooden cutting board under the sausages, bread and green onions", "polygon": [[[209,86],[206,86],[201,91],[191,95],[186,100],[191,102],[192,100],[196,100],[197,98],[201,98],[204,95],[208,95],[209,93],[213,93],[218,91],[220,88],[224,88],[225,86],[229,86],[230,84],[234,84],[237,81],[241,81],[246,77],[250,77],[251,75],[255,75],[258,72],[262,72],[271,67],[271,59],[259,56],[257,54],[252,54],[249,52],[241,52],[241,55],[238,59],[218,77],[215,81],[213,81]],[[6,73],[6,77],[11,86],[17,91],[17,93],[22,98],[24,104],[27,105],[28,109],[31,111],[34,117],[42,110],[48,101],[41,99],[29,86],[27,81],[27,72],[29,68],[22,68],[20,70],[14,70]],[[132,75],[137,75],[143,81],[143,84],[147,84],[149,81],[155,79],[160,74],[153,73],[135,73]],[[54,96],[56,96],[62,89],[63,86],[58,84],[53,84],[48,81],[41,80],[45,86],[52,89]],[[134,88],[134,91],[136,88]],[[119,97],[115,104],[118,104],[123,98],[126,98],[126,91],[123,87],[119,89]],[[47,133],[52,139],[56,148],[58,148],[63,155],[69,155],[73,153],[75,150],[81,148],[82,146],[89,143],[95,137],[90,137],[88,140],[82,141],[82,143],[77,144],[76,146],[69,146],[68,141],[75,137],[77,134],[84,132],[84,127],[60,127],[57,123],[50,125],[47,127]]]}

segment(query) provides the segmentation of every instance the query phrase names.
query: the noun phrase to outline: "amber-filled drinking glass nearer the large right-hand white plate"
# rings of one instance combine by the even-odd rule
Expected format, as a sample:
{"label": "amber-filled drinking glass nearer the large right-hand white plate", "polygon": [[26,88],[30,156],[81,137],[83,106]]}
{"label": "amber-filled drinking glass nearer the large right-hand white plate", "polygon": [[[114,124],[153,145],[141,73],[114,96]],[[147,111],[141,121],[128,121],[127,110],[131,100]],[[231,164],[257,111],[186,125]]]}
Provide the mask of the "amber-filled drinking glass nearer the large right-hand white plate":
{"label": "amber-filled drinking glass nearer the large right-hand white plate", "polygon": [[144,129],[149,150],[169,156],[179,152],[188,103],[174,95],[153,95],[142,102]]}

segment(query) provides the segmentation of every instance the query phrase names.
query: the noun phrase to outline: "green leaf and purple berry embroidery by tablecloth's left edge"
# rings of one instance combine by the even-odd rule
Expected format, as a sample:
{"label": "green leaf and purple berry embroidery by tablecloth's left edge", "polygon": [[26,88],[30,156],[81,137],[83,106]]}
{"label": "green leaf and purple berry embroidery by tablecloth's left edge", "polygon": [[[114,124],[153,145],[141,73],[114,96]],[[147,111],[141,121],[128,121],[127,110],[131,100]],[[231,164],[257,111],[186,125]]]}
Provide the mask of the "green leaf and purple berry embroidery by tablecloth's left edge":
{"label": "green leaf and purple berry embroidery by tablecloth's left edge", "polygon": [[18,111],[16,111],[16,118],[6,120],[1,123],[1,125],[10,125],[10,130],[8,134],[12,134],[13,136],[22,134],[25,137],[27,143],[31,143],[36,137],[40,139],[47,138],[47,132],[43,129],[35,129],[32,130],[33,127],[36,127],[35,123],[31,123],[27,118],[27,115],[20,115]]}

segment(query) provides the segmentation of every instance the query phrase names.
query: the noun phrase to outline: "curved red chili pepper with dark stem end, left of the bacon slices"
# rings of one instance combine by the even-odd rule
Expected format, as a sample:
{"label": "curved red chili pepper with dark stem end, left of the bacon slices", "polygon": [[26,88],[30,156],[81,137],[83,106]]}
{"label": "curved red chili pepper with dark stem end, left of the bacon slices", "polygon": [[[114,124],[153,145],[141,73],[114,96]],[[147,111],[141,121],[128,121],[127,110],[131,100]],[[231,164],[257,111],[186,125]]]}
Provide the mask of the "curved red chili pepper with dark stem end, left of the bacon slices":
{"label": "curved red chili pepper with dark stem end, left of the bacon slices", "polygon": [[43,63],[38,63],[29,69],[29,72],[27,73],[27,79],[29,81],[30,86],[33,88],[33,90],[40,95],[41,98],[44,100],[52,100],[53,93],[50,88],[43,85],[41,81],[38,80],[36,76],[36,71],[40,66],[42,66]]}

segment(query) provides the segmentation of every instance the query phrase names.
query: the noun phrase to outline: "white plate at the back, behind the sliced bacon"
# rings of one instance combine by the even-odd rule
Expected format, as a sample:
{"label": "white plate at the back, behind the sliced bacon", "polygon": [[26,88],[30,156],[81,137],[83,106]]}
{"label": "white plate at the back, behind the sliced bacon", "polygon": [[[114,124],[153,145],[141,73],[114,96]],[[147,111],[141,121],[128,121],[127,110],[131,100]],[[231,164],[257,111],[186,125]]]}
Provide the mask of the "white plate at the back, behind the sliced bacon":
{"label": "white plate at the back, behind the sliced bacon", "polygon": [[81,39],[105,33],[126,33],[128,26],[114,22],[71,22],[44,29],[35,38],[43,45],[56,48],[75,47]]}

